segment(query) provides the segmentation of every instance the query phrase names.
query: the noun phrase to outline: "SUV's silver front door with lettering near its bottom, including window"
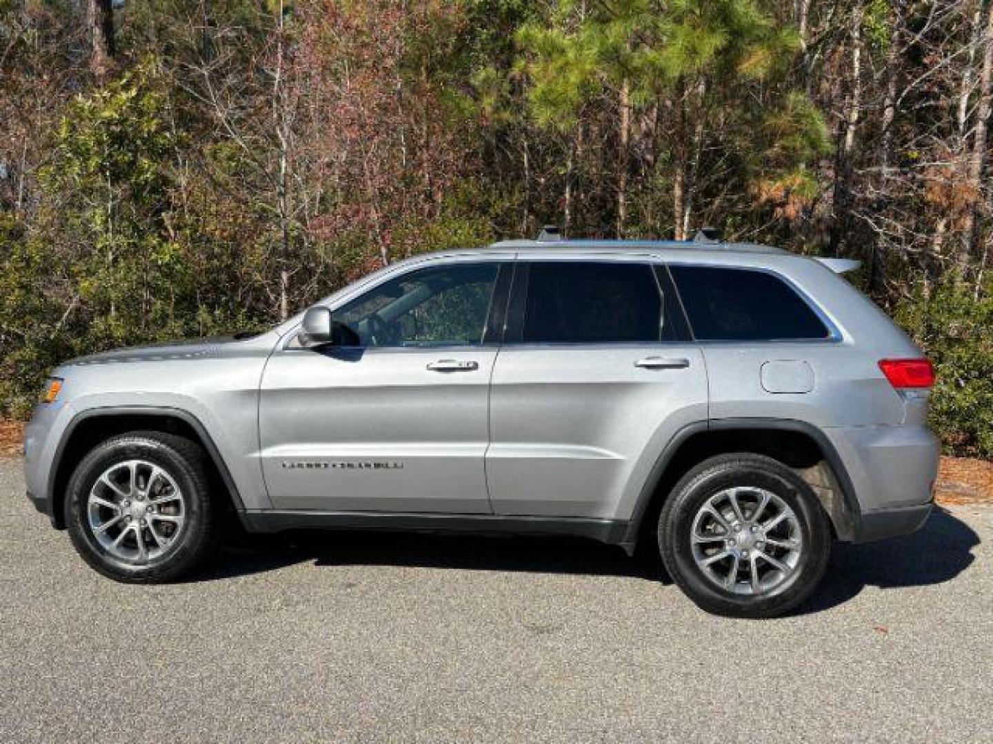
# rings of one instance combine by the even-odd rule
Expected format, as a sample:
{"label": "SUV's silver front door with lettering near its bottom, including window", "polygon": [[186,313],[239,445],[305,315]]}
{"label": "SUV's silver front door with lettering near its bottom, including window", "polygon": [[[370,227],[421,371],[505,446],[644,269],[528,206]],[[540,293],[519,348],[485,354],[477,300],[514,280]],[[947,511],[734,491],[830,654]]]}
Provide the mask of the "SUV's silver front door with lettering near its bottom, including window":
{"label": "SUV's silver front door with lettering near its bottom, including window", "polygon": [[358,345],[291,342],[270,358],[259,431],[276,509],[491,512],[484,455],[498,345],[488,324],[510,264],[400,271],[333,309]]}

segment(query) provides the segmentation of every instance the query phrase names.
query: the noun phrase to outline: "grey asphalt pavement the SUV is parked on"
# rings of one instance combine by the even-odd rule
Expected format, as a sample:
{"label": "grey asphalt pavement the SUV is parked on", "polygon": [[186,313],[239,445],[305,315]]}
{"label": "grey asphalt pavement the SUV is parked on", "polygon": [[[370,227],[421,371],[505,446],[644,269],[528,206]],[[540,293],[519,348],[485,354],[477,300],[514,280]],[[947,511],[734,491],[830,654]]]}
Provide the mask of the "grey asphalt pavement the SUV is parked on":
{"label": "grey asphalt pavement the SUV is parked on", "polygon": [[778,620],[620,549],[305,533],[168,586],[76,557],[0,460],[0,741],[993,741],[993,508],[838,546]]}

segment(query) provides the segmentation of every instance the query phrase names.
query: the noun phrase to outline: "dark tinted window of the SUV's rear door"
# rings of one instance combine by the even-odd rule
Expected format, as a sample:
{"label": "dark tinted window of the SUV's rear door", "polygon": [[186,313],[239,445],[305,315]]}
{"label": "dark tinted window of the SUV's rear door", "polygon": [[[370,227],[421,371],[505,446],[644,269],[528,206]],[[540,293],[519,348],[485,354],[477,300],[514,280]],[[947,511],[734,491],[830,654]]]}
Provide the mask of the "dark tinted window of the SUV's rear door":
{"label": "dark tinted window of the SUV's rear door", "polygon": [[524,343],[658,341],[661,298],[644,264],[530,265]]}

